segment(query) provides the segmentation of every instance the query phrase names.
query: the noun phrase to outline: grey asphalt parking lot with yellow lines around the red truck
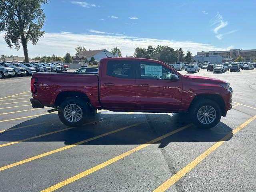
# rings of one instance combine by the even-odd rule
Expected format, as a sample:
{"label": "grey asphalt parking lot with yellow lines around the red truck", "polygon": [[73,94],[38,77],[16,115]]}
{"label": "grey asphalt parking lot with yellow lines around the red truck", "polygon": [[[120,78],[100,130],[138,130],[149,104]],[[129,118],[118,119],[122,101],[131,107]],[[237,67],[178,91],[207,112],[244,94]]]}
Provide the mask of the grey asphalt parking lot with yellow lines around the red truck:
{"label": "grey asphalt parking lot with yellow lines around the red truck", "polygon": [[0,191],[256,191],[256,70],[191,75],[233,88],[210,130],[184,114],[107,110],[68,128],[31,107],[30,77],[0,80]]}

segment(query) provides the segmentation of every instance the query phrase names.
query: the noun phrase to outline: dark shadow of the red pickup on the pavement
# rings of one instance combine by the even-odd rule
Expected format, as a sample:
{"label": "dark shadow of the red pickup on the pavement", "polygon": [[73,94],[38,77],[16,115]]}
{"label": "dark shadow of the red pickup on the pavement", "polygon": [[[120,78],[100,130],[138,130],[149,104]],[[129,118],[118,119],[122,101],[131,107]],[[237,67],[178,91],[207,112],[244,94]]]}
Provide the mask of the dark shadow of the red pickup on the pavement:
{"label": "dark shadow of the red pickup on the pavement", "polygon": [[[68,128],[60,122],[57,114],[48,114],[22,122],[0,134],[0,142],[13,142],[39,136],[27,140],[27,142],[64,142],[64,144],[74,144],[107,132],[124,128],[118,132],[102,136],[100,138],[82,143],[81,145],[132,145],[145,144],[146,142],[158,138],[164,134],[172,132],[182,126],[190,124],[190,118],[186,114],[145,114],[145,113],[102,113],[97,114],[94,122],[81,127]],[[42,122],[34,126],[35,122]],[[46,123],[44,123],[46,122]],[[135,125],[136,124],[136,125]],[[60,131],[46,136],[40,136],[49,132]],[[194,125],[181,130],[159,143],[159,148],[163,148],[171,142],[217,142],[223,140],[224,136],[230,134],[230,140],[233,136],[232,128],[219,122],[217,126],[211,129],[200,129]],[[26,141],[24,141],[26,142]]]}

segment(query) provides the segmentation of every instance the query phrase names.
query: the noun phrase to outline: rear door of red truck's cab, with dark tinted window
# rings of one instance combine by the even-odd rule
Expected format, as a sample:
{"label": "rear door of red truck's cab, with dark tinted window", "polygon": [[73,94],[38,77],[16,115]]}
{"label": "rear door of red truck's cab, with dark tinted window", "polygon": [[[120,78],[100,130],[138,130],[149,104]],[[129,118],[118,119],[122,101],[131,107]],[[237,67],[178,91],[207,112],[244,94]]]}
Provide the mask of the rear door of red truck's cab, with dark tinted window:
{"label": "rear door of red truck's cab, with dark tinted window", "polygon": [[135,66],[132,60],[107,60],[100,76],[103,107],[131,109],[136,106]]}

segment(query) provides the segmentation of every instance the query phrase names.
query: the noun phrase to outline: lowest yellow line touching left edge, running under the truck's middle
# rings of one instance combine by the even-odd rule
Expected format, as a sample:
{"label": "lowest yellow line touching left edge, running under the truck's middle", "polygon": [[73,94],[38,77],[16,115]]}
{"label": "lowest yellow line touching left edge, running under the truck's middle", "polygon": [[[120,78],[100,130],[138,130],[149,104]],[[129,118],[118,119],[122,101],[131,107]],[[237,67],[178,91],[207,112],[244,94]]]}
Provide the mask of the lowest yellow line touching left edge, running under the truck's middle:
{"label": "lowest yellow line touching left edge, running under the truck's middle", "polygon": [[[145,122],[147,122],[147,121],[145,121]],[[39,159],[39,158],[42,158],[42,157],[45,157],[45,156],[48,156],[48,155],[51,155],[51,154],[54,154],[56,152],[60,152],[60,151],[63,151],[63,150],[66,150],[66,149],[69,149],[69,148],[72,148],[72,147],[84,144],[84,143],[92,141],[92,140],[96,140],[98,138],[101,138],[101,137],[104,137],[104,136],[107,136],[107,135],[110,135],[110,134],[113,134],[113,133],[116,133],[116,132],[128,129],[130,127],[134,127],[134,126],[140,125],[140,124],[145,123],[145,122],[140,122],[140,123],[132,124],[132,125],[129,125],[129,126],[125,126],[125,127],[122,127],[122,128],[110,131],[110,132],[106,132],[104,134],[100,134],[100,135],[92,137],[92,138],[88,138],[86,140],[82,140],[80,142],[76,142],[74,144],[70,144],[70,145],[67,145],[67,146],[64,146],[64,147],[61,147],[61,148],[58,148],[58,149],[55,149],[55,150],[52,150],[52,151],[49,151],[49,152],[46,152],[46,153],[43,153],[43,154],[39,154],[39,155],[30,157],[30,158],[24,159],[22,161],[18,161],[18,162],[15,162],[15,163],[12,163],[12,164],[0,167],[0,171],[6,170],[6,169],[14,167],[14,166],[18,166],[18,165],[21,165],[21,164],[24,164],[24,163],[27,163],[27,162],[30,162],[32,160],[36,160],[36,159]]]}

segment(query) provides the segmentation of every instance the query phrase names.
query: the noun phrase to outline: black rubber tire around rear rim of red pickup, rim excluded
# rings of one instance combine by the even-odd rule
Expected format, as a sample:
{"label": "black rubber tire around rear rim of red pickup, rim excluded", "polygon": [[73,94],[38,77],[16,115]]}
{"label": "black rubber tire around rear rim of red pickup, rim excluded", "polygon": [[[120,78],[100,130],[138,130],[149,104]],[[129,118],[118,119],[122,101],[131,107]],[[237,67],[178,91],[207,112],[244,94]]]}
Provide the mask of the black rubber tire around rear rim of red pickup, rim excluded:
{"label": "black rubber tire around rear rim of red pickup, rim excluded", "polygon": [[[66,106],[68,106],[70,104],[75,104],[75,105],[79,106],[82,109],[82,118],[77,122],[70,122],[64,116],[64,109],[65,109]],[[84,101],[80,98],[70,98],[70,99],[67,99],[64,102],[62,102],[62,104],[60,104],[60,107],[59,107],[59,110],[58,110],[58,115],[59,115],[59,118],[60,118],[61,122],[63,124],[65,124],[66,126],[78,127],[78,126],[81,126],[82,124],[84,124],[86,122],[86,120],[90,119],[90,117],[89,117],[90,116],[90,110],[89,110],[89,106],[86,103],[86,101]]]}

